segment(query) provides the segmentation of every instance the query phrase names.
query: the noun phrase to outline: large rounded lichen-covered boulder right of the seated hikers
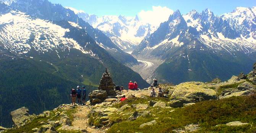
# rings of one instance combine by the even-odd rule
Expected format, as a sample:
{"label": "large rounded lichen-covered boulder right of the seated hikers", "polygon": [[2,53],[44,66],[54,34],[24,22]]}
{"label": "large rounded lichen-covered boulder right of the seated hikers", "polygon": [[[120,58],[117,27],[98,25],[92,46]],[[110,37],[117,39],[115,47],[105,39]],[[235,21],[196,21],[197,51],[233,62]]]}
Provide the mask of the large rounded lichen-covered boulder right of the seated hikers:
{"label": "large rounded lichen-covered boulder right of the seated hikers", "polygon": [[217,93],[203,82],[185,82],[175,87],[170,106],[181,107],[184,103],[217,99]]}

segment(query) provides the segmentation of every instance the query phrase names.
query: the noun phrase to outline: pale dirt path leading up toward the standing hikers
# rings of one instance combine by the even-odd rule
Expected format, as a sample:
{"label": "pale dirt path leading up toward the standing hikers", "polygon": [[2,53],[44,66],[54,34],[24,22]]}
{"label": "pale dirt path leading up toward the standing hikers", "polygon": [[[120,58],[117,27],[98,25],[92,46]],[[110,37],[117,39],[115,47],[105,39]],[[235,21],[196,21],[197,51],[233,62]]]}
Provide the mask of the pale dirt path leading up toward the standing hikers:
{"label": "pale dirt path leading up toward the standing hikers", "polygon": [[77,106],[77,112],[74,114],[72,125],[89,133],[105,133],[104,129],[97,129],[89,125],[88,114],[91,112],[90,106]]}

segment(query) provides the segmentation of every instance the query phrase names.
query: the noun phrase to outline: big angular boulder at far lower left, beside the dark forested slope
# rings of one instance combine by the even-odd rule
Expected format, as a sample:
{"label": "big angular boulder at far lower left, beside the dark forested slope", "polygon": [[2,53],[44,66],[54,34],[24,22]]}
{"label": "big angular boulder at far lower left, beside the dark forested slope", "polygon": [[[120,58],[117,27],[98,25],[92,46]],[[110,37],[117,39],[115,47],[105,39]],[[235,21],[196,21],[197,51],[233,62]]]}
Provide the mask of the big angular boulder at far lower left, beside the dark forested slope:
{"label": "big angular boulder at far lower left, beside the dark forested slope", "polygon": [[36,117],[36,115],[29,115],[29,109],[26,107],[11,111],[10,114],[14,123],[14,127],[20,127]]}

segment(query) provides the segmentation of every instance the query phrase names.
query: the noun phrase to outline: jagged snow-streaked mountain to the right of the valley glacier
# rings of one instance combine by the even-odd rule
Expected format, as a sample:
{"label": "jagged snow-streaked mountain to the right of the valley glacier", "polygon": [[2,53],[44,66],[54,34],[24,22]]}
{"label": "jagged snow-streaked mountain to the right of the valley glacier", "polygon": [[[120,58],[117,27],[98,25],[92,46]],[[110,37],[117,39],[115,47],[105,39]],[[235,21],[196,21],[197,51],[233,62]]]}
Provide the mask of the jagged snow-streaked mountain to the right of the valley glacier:
{"label": "jagged snow-streaked mountain to the right of the valley glacier", "polygon": [[237,8],[222,16],[209,9],[186,15],[175,11],[132,54],[165,60],[149,79],[175,84],[225,80],[249,72],[256,61],[255,27],[255,7]]}

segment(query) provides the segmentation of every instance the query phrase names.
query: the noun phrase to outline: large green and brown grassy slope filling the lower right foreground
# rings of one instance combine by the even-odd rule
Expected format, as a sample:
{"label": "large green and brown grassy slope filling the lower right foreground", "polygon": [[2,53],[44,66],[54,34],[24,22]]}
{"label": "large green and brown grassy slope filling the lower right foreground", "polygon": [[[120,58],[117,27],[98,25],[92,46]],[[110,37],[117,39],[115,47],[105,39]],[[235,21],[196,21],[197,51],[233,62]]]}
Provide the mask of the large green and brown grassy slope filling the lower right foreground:
{"label": "large green and brown grassy slope filling the lower right foreground", "polygon": [[[114,123],[107,131],[116,133],[118,130],[125,133],[170,133],[172,130],[189,124],[199,123],[200,129],[196,133],[253,133],[256,132],[256,95],[231,97],[222,100],[202,101],[185,108],[156,109],[150,107],[151,115],[139,117],[134,121],[121,119]],[[135,102],[135,101],[132,101]],[[117,117],[117,116],[116,116]],[[139,128],[139,125],[150,122],[156,117],[157,124]],[[248,122],[249,125],[229,127],[221,125],[233,121]]]}

